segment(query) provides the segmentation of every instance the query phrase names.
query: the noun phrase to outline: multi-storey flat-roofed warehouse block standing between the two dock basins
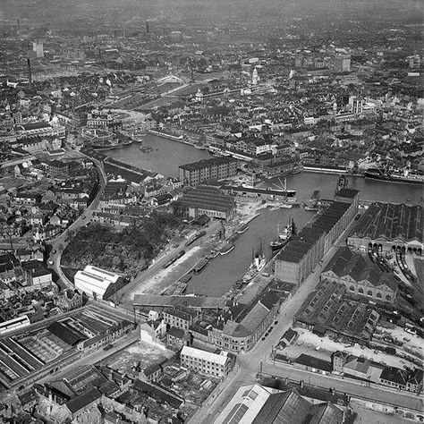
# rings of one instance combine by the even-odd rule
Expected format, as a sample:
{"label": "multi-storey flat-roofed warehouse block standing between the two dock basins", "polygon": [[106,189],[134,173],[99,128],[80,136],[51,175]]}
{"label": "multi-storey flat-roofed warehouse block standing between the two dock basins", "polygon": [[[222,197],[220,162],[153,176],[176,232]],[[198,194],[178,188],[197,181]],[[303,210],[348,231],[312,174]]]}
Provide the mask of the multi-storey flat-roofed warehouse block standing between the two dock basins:
{"label": "multi-storey flat-roofed warehouse block standing between the two dock basins", "polygon": [[223,180],[237,174],[237,163],[237,160],[231,157],[214,157],[180,165],[180,181],[197,186],[202,182]]}

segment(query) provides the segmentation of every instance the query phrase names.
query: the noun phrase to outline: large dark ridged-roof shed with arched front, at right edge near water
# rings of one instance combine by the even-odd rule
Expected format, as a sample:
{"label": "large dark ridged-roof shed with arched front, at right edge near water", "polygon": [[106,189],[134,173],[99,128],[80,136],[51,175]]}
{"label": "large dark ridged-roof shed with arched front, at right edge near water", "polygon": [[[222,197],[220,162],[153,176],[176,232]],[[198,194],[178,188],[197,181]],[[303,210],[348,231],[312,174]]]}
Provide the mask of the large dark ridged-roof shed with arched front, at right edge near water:
{"label": "large dark ridged-roof shed with arched front, at right edge near water", "polygon": [[422,255],[423,209],[420,206],[372,203],[355,225],[348,244],[362,250],[402,251]]}

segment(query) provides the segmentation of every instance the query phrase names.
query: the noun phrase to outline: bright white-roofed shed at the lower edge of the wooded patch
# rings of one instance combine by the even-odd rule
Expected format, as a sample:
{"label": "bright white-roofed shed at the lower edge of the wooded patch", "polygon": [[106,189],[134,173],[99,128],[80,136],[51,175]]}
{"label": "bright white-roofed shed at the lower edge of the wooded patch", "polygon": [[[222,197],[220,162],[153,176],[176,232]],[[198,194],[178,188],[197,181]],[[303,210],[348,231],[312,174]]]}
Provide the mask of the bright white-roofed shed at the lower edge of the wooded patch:
{"label": "bright white-roofed shed at the lower edge of the wooded patch", "polygon": [[88,296],[95,299],[106,299],[108,297],[107,295],[105,296],[106,292],[108,292],[107,294],[110,293],[110,290],[108,291],[107,289],[111,287],[111,284],[118,289],[117,283],[120,278],[123,280],[123,277],[118,274],[88,265],[75,274],[74,281],[75,288]]}

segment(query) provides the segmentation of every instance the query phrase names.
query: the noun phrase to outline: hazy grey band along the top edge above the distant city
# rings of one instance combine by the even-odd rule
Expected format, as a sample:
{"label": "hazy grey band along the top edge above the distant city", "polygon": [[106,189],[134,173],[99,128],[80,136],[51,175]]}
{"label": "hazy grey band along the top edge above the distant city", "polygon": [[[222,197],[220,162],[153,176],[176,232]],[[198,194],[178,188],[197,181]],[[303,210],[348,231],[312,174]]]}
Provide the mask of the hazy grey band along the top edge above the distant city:
{"label": "hazy grey band along the top edge above the distant city", "polygon": [[424,0],[0,0],[0,17],[52,25],[95,16],[113,21],[137,16],[175,22],[241,20],[262,24],[314,14],[343,19],[360,15],[368,19],[422,18],[423,7]]}

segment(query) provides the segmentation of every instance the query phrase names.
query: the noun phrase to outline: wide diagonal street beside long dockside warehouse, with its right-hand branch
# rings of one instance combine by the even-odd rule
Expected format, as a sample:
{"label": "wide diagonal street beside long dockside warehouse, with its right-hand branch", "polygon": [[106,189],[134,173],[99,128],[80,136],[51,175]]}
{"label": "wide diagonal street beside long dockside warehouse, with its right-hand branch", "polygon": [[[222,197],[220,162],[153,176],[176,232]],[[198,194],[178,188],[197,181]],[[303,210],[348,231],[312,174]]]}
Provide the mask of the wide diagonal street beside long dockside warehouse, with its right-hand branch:
{"label": "wide diagonal street beside long dockside warehouse, with its right-hand branch", "polygon": [[[351,224],[352,225],[352,224]],[[350,227],[346,230],[349,231]],[[344,232],[344,233],[346,233]],[[271,375],[278,375],[281,377],[285,377],[285,369],[284,370],[277,370],[276,373],[272,372],[274,371],[274,368],[267,368],[270,367],[269,364],[267,364],[267,361],[269,360],[270,353],[273,350],[273,347],[276,346],[276,344],[279,342],[282,335],[284,335],[285,331],[289,329],[290,326],[293,324],[293,318],[296,312],[301,307],[301,304],[306,301],[308,298],[310,292],[315,288],[315,286],[318,284],[319,281],[319,275],[321,273],[321,270],[326,267],[329,260],[333,257],[335,254],[335,251],[338,249],[338,247],[343,243],[344,241],[344,233],[339,237],[337,242],[335,242],[334,246],[327,252],[326,256],[322,260],[322,263],[320,266],[316,267],[315,271],[301,284],[301,287],[298,289],[296,293],[293,294],[292,299],[287,301],[287,303],[281,308],[277,320],[278,323],[274,325],[274,328],[272,331],[267,335],[265,340],[260,340],[259,343],[256,343],[256,345],[249,351],[246,352],[243,355],[238,356],[237,363],[235,368],[233,369],[233,372],[225,378],[224,382],[220,386],[220,393],[214,394],[215,397],[212,399],[212,401],[205,403],[201,408],[199,408],[198,411],[195,412],[195,414],[191,417],[189,420],[189,423],[191,424],[199,424],[199,423],[205,423],[210,424],[211,422],[214,422],[216,417],[219,415],[221,411],[225,408],[226,403],[229,402],[229,400],[233,397],[233,394],[237,391],[237,389],[245,384],[251,384],[256,380],[256,375],[260,371],[260,367],[262,366],[263,369],[267,369],[268,371],[271,371]],[[262,365],[261,365],[262,363]],[[293,369],[294,371],[299,371],[300,373],[302,370]],[[304,371],[307,372],[307,371]],[[310,373],[308,373],[308,377],[311,376]],[[299,374],[301,375],[301,374]],[[312,375],[312,377],[315,375]],[[325,378],[324,380],[320,381],[320,386],[326,386],[325,385]],[[294,379],[294,378],[293,378]],[[306,377],[298,377],[299,380],[307,380]],[[331,382],[328,385],[328,382]],[[335,383],[333,380],[327,380],[327,385],[334,387]],[[346,383],[344,383],[346,385]],[[352,382],[349,383],[349,385],[352,385]],[[352,385],[354,386],[354,385]],[[343,392],[345,393],[351,393],[350,390],[348,390],[349,387],[347,386],[341,386],[343,387]],[[375,394],[376,389],[373,389],[372,391],[369,391],[368,387],[363,386],[354,386],[355,390],[359,389],[361,396],[377,396]],[[377,391],[378,392],[378,391]],[[416,401],[416,398],[413,398],[411,396],[408,396],[406,394],[397,394],[395,392],[393,393],[386,393],[383,392],[383,396],[387,399],[390,399],[392,402],[394,398],[396,399],[397,403],[403,402],[404,398],[407,399],[413,399]],[[376,397],[377,400],[377,397]]]}

